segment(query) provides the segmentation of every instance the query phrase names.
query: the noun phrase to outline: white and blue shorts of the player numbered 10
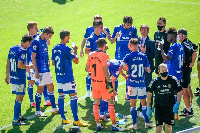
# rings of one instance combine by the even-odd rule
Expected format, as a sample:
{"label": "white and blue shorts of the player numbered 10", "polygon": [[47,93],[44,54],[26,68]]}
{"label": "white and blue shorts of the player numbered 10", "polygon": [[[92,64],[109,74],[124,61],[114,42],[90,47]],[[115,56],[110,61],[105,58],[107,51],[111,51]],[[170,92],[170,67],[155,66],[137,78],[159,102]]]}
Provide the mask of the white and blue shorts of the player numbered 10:
{"label": "white and blue shorts of the player numbered 10", "polygon": [[25,95],[26,85],[25,84],[11,84],[12,94]]}

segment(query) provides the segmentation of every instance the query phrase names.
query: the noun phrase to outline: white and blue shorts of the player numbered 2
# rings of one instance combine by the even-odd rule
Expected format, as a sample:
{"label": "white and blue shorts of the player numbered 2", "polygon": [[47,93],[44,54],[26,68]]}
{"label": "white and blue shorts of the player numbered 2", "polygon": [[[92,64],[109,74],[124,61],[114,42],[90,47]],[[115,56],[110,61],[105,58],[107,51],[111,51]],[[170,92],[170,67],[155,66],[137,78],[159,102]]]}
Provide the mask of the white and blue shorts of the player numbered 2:
{"label": "white and blue shorts of the player numbered 2", "polygon": [[72,94],[77,93],[76,83],[74,81],[69,83],[57,83],[58,93]]}

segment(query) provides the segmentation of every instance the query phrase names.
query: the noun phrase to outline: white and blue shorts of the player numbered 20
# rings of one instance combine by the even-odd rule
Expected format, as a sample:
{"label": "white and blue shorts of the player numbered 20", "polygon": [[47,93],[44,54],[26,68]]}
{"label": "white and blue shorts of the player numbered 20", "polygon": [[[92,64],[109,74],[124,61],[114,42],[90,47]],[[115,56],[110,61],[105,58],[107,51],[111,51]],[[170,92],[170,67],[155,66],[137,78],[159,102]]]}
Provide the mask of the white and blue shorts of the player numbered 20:
{"label": "white and blue shorts of the player numbered 20", "polygon": [[130,99],[145,99],[146,98],[146,87],[128,87],[128,95]]}

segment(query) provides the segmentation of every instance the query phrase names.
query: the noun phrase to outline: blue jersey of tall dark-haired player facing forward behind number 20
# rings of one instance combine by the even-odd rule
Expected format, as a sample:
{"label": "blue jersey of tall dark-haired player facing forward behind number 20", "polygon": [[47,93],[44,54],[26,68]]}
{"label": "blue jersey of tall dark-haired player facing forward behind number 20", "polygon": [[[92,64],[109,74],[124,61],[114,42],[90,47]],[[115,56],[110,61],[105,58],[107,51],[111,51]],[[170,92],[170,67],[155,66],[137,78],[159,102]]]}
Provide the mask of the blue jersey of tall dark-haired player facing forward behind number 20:
{"label": "blue jersey of tall dark-haired player facing forward behind number 20", "polygon": [[123,60],[126,54],[129,54],[128,43],[131,38],[138,38],[137,29],[131,26],[129,29],[124,29],[123,24],[114,28],[112,38],[115,38],[116,33],[121,32],[121,37],[116,39],[115,59]]}

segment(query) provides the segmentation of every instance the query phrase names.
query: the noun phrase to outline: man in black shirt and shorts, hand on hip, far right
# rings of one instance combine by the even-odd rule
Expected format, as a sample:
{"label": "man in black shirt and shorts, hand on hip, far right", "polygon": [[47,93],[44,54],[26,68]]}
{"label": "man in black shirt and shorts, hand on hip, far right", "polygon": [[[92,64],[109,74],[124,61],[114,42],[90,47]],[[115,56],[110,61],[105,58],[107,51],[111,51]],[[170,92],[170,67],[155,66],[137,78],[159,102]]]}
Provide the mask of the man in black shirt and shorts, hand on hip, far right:
{"label": "man in black shirt and shorts, hand on hip, far right", "polygon": [[187,30],[186,29],[179,29],[178,30],[178,40],[181,42],[181,45],[184,47],[185,51],[185,60],[183,62],[183,78],[181,81],[181,85],[183,87],[182,94],[183,94],[183,100],[185,102],[186,108],[181,111],[182,114],[179,116],[193,116],[193,110],[192,110],[192,89],[190,86],[190,75],[192,72],[192,67],[194,66],[197,52],[195,49],[193,49],[193,45],[191,44],[191,41],[187,38]]}

